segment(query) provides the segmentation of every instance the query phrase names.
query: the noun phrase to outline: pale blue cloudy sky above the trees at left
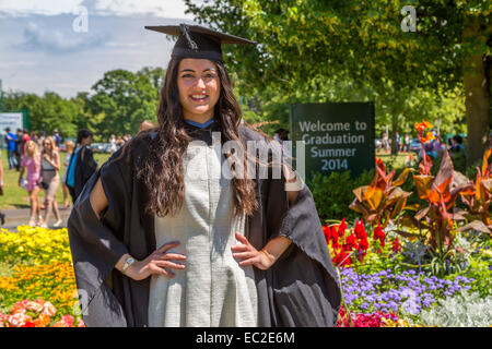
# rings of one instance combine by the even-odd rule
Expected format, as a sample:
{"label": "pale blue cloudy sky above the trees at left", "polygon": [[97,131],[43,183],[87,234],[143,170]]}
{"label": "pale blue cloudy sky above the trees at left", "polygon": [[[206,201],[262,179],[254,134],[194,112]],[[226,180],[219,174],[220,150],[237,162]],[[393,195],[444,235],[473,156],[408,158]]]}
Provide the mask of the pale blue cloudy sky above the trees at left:
{"label": "pale blue cloudy sky above the trees at left", "polygon": [[181,0],[0,0],[2,89],[73,97],[109,70],[165,68],[173,43],[143,26],[181,22]]}

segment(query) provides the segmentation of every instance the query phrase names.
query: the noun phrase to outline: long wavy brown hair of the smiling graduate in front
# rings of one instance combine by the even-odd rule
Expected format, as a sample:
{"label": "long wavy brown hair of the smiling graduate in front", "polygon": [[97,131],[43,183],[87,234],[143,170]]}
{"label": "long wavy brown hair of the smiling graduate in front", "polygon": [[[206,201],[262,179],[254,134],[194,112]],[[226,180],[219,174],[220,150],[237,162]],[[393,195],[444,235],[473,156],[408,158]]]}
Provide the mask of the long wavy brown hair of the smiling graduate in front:
{"label": "long wavy brown hair of the smiling graduate in front", "polygon": [[[183,109],[179,103],[177,87],[177,74],[179,58],[172,58],[161,88],[157,108],[159,125],[151,130],[140,132],[132,141],[151,137],[145,156],[137,159],[136,174],[141,180],[149,193],[145,210],[157,216],[175,215],[184,203],[185,183],[183,156],[191,141],[185,130]],[[221,130],[222,143],[236,141],[244,147],[239,140],[238,127],[242,120],[239,104],[233,93],[233,87],[227,72],[221,62],[215,62],[221,81],[220,97],[214,106],[214,119]],[[136,142],[127,143],[131,149]],[[125,153],[125,152],[122,152]],[[121,155],[122,155],[121,153]],[[244,149],[244,171],[247,173],[247,152]],[[225,155],[227,156],[227,154]],[[234,177],[233,185],[233,213],[253,215],[258,207],[255,183],[247,176]]]}

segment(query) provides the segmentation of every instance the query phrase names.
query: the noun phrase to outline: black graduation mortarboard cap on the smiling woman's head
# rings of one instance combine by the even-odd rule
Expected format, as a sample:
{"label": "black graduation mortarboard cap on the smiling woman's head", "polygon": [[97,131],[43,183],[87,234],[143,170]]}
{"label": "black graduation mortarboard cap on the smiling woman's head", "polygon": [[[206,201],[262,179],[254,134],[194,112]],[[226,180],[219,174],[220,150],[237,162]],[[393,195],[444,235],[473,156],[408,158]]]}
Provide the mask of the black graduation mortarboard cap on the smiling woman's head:
{"label": "black graduation mortarboard cap on the smiling woman's head", "polygon": [[221,45],[243,44],[256,45],[257,43],[245,38],[212,31],[199,25],[160,25],[145,26],[145,29],[177,36],[172,57],[204,58],[223,61]]}

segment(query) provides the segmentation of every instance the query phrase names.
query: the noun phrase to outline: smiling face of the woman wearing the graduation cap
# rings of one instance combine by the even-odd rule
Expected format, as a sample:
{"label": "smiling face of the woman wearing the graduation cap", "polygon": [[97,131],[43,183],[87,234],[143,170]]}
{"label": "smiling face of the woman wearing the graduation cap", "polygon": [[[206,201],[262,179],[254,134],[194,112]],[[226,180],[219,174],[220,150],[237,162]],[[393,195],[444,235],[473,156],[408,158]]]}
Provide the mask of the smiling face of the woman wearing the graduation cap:
{"label": "smiling face of the woman wearing the graduation cap", "polygon": [[208,59],[185,58],[179,62],[177,76],[185,118],[203,122],[213,117],[221,92],[215,63]]}

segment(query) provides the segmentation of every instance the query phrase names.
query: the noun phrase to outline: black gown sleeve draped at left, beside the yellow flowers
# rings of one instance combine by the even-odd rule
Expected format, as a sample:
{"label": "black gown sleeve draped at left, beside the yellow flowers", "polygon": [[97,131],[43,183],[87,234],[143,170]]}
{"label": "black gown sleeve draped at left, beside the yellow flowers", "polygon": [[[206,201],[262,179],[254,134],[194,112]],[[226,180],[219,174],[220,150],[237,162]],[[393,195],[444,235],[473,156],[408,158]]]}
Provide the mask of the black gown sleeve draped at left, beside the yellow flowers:
{"label": "black gown sleeve draped at left, beside the yellow flowers", "polygon": [[[128,249],[122,241],[125,209],[130,202],[131,176],[121,151],[93,173],[68,219],[68,233],[82,315],[87,326],[126,326],[125,314],[106,285],[115,264]],[[108,206],[94,213],[90,193],[101,178]]]}

